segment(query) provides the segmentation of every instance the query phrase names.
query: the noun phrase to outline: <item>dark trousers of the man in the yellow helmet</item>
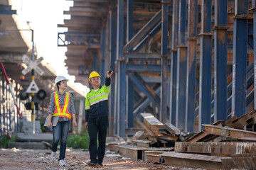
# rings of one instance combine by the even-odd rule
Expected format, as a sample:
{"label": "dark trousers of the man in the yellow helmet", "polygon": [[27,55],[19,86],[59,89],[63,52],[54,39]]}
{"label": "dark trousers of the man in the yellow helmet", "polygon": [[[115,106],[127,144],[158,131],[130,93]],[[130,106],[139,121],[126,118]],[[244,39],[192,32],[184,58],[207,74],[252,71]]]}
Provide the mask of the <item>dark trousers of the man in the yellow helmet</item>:
{"label": "dark trousers of the man in the yellow helmet", "polygon": [[[88,120],[88,133],[90,137],[89,152],[91,162],[102,163],[105,155],[105,145],[107,137],[108,117]],[[99,147],[97,148],[97,137]]]}

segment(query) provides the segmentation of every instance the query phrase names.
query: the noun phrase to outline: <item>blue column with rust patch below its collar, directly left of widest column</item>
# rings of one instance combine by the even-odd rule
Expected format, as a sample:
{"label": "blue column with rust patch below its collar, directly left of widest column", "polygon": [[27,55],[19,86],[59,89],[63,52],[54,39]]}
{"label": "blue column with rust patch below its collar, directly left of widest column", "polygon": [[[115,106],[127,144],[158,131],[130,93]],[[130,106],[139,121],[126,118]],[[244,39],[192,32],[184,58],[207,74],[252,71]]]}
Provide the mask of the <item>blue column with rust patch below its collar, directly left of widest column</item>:
{"label": "blue column with rust patch below its collar, directly left of widest column", "polygon": [[227,120],[228,3],[215,0],[214,30],[214,122]]}

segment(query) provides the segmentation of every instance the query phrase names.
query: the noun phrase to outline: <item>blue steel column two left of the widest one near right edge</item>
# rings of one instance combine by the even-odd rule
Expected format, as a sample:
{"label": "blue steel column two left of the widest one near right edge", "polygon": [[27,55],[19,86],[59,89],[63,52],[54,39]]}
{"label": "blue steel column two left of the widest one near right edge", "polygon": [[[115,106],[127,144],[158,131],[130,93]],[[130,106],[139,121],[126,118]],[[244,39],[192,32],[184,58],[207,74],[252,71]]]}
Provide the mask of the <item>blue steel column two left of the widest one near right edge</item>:
{"label": "blue steel column two left of the widest one near right edge", "polygon": [[202,0],[198,131],[204,128],[202,124],[210,124],[212,69],[211,8],[211,0]]}

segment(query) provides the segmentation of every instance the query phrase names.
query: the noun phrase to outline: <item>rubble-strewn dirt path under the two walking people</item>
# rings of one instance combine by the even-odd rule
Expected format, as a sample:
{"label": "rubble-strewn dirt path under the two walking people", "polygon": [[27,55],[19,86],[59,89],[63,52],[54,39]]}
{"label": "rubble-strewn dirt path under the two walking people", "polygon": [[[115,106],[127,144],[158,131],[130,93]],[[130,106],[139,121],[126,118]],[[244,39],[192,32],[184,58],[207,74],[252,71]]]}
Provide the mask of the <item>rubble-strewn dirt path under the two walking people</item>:
{"label": "rubble-strewn dirt path under the two walking people", "polygon": [[103,161],[104,166],[88,166],[90,161],[88,151],[82,149],[68,149],[65,162],[68,166],[59,166],[58,161],[50,160],[51,151],[49,149],[0,149],[0,169],[136,169],[136,170],[161,170],[174,169],[174,166],[156,165],[149,162],[132,161],[127,157],[122,157],[114,152],[106,152]]}

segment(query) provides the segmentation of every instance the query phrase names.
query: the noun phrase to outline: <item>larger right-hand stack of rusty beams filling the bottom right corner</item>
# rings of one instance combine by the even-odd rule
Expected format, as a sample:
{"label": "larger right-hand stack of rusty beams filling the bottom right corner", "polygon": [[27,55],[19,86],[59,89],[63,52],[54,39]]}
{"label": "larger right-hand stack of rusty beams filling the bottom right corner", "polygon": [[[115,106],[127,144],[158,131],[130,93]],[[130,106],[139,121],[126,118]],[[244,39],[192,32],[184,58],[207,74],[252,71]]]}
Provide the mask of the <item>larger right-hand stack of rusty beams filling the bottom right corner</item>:
{"label": "larger right-hand stack of rusty beams filling the bottom right corner", "polygon": [[164,152],[166,165],[203,169],[256,169],[256,111],[218,121]]}

